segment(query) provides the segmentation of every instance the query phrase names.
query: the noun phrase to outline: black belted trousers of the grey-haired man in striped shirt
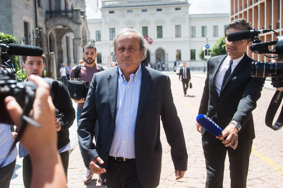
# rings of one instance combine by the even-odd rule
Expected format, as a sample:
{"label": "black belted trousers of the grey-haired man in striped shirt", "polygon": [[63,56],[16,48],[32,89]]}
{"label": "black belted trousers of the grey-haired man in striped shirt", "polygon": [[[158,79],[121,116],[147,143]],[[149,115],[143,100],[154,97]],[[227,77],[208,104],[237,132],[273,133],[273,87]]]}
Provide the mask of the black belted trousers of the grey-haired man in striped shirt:
{"label": "black belted trousers of the grey-haired man in striped shirt", "polygon": [[136,160],[116,161],[109,156],[106,169],[108,188],[142,188],[136,172]]}

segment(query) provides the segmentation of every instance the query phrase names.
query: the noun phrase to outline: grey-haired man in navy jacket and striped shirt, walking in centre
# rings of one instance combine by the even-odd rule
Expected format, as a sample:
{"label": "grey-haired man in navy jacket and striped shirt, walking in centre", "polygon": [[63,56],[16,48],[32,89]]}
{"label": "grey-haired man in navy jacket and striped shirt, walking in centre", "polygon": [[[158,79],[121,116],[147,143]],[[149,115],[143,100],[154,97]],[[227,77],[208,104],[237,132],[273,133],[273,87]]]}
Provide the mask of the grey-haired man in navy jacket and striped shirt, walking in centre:
{"label": "grey-haired man in navy jacket and striped shirt, walking in centre", "polygon": [[[79,119],[78,139],[85,166],[97,174],[105,173],[108,188],[157,187],[161,116],[176,179],[182,178],[187,150],[169,77],[141,64],[147,42],[134,29],[122,29],[111,46],[118,66],[94,74]],[[96,119],[99,132],[94,144]]]}

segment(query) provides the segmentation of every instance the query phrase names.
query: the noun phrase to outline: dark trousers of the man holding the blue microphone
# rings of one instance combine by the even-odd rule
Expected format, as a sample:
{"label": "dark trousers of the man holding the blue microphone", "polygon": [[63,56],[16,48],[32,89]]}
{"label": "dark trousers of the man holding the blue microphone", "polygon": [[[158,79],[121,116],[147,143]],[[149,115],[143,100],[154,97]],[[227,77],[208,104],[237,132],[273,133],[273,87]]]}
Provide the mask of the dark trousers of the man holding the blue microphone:
{"label": "dark trousers of the man holding the blue microphone", "polygon": [[[216,118],[213,119],[215,120]],[[230,146],[225,147],[221,140],[205,131],[202,144],[207,171],[205,187],[223,187],[224,162],[228,152],[231,188],[245,188],[253,141],[239,142],[237,148],[233,150]]]}

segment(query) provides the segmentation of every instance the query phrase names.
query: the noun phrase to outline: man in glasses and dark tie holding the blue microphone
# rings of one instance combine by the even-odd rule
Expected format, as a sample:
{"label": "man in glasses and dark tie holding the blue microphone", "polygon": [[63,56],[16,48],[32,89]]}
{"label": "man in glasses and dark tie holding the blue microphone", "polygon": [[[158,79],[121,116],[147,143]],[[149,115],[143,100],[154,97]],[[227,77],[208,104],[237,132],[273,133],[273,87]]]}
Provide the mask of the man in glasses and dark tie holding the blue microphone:
{"label": "man in glasses and dark tie holding the blue microphone", "polygon": [[[225,36],[251,29],[252,25],[246,19],[235,19],[226,26]],[[210,117],[223,131],[220,136],[214,137],[198,123],[196,125],[202,135],[206,187],[223,187],[224,161],[228,151],[231,187],[241,188],[246,187],[251,146],[255,138],[251,112],[256,108],[265,78],[251,77],[251,62],[254,60],[245,53],[249,39],[230,42],[224,38],[224,41],[228,55],[208,60],[198,112]]]}

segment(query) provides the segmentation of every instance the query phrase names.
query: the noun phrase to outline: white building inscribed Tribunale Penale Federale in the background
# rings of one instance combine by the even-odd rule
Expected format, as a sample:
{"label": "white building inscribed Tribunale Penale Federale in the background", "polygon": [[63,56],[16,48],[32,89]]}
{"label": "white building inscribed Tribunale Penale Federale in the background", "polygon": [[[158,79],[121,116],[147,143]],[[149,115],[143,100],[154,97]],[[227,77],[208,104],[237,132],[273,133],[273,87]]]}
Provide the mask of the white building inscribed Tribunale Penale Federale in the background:
{"label": "white building inscribed Tribunale Penale Federale in the background", "polygon": [[[229,14],[188,15],[189,6],[187,0],[102,1],[102,18],[88,19],[89,37],[95,41],[97,48],[97,62],[109,67],[110,62],[115,61],[110,49],[112,39],[121,29],[133,27],[153,40],[148,45],[145,63],[155,63],[160,59],[169,70],[173,69],[176,60],[186,61],[190,67],[203,67],[203,61],[198,58],[198,52],[206,41],[206,36],[201,37],[201,26],[207,26],[212,46],[223,35],[222,28],[229,23]],[[218,26],[215,37],[212,37],[213,26]],[[194,36],[190,27],[195,27]],[[192,58],[190,49],[195,50],[195,58]]]}

